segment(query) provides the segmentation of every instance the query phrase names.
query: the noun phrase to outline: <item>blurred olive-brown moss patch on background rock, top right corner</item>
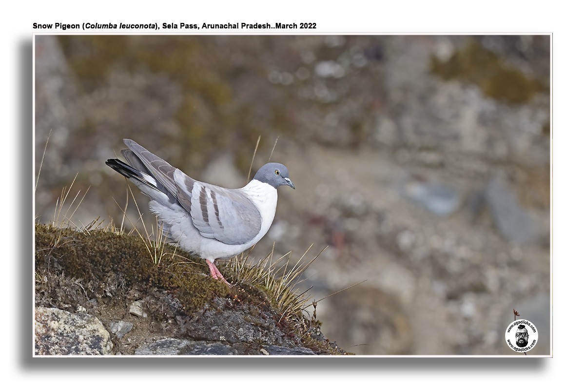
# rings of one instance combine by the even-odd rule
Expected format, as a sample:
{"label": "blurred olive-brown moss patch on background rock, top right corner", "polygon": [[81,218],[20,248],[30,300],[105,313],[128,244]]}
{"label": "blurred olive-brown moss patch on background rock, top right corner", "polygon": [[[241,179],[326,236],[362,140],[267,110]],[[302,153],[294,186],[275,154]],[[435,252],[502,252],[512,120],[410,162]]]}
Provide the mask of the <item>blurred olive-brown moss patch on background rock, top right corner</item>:
{"label": "blurred olive-brown moss patch on background rock, top right corner", "polygon": [[505,103],[526,103],[536,94],[548,92],[541,81],[526,77],[518,68],[505,64],[477,40],[470,40],[445,62],[431,57],[431,72],[445,80],[476,84],[486,96]]}

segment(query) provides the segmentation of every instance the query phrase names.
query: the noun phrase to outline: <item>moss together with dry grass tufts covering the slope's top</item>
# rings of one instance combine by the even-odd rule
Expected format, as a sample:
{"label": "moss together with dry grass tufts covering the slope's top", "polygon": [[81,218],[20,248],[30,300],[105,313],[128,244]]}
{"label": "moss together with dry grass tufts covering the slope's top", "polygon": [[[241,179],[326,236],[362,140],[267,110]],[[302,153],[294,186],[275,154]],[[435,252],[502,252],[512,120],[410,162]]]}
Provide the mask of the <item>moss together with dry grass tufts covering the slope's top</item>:
{"label": "moss together with dry grass tufts covering the slope's top", "polygon": [[[153,310],[156,320],[174,321],[173,316],[180,315],[197,322],[210,309],[218,313],[243,310],[246,322],[266,327],[269,319],[298,345],[317,353],[344,353],[316,329],[316,316],[306,310],[310,306],[307,291],[295,291],[302,273],[319,256],[304,263],[310,247],[294,265],[292,253],[274,261],[273,252],[256,263],[248,253],[232,258],[226,266],[220,264],[233,283],[230,288],[205,273],[204,260],[167,243],[159,227],[148,232],[140,212],[142,223],[132,223],[130,232],[116,227],[112,219],[105,226],[99,218],[87,226],[75,224],[73,215],[83,196],[79,198],[78,191],[67,202],[73,184],[57,201],[54,222],[35,225],[36,305],[91,310],[89,302],[107,306],[108,301],[124,299],[130,291],[147,295],[156,291],[157,296],[166,291],[181,307]],[[127,208],[128,199],[121,207],[125,218]],[[185,334],[201,337],[200,333],[193,336],[191,330]]]}

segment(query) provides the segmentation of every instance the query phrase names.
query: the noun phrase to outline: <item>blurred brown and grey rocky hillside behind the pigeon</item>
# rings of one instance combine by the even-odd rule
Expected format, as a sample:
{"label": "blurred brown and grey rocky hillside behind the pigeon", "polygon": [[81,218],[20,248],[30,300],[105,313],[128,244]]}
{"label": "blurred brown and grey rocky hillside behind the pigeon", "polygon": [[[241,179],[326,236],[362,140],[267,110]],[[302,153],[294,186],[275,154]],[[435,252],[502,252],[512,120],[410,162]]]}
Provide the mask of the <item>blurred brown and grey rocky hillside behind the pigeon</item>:
{"label": "blurred brown and grey rocky hillside behind the pigeon", "polygon": [[71,222],[120,225],[128,185],[104,161],[121,156],[123,138],[193,178],[241,187],[261,136],[252,172],[271,158],[297,189],[280,189],[251,256],[274,244],[275,258],[292,251],[297,261],[314,244],[311,260],[329,246],[299,285],[315,300],[366,280],[317,303],[340,347],[517,354],[504,341],[516,309],[538,327],[529,354],[549,354],[549,45],[549,36],[36,36],[36,218],[54,218],[77,175],[71,194],[88,191]]}

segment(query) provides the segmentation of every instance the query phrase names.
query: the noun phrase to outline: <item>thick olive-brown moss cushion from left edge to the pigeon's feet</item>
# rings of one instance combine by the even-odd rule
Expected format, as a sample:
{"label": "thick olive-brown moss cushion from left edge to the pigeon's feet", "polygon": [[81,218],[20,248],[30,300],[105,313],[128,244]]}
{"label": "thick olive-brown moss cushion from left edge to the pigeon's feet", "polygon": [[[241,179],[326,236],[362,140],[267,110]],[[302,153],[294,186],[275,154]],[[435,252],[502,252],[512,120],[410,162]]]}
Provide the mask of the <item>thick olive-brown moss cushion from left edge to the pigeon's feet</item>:
{"label": "thick olive-brown moss cushion from left edge to the pigeon's feet", "polygon": [[35,247],[35,271],[39,274],[63,272],[86,285],[99,285],[112,273],[120,274],[128,287],[151,285],[173,291],[188,313],[201,309],[215,296],[231,294],[229,287],[205,274],[204,261],[180,249],[170,247],[168,256],[154,264],[146,244],[137,236],[104,230],[87,234],[37,224]]}

